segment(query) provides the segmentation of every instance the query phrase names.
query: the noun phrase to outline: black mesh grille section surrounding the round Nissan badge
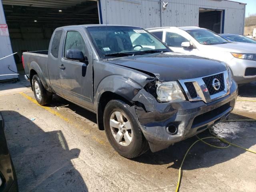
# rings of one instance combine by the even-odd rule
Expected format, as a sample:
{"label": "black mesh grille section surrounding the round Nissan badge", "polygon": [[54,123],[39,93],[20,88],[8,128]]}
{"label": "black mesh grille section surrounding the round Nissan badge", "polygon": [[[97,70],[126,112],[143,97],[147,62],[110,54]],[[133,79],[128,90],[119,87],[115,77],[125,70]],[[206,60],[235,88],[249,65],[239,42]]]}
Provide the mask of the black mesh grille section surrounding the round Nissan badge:
{"label": "black mesh grille section surrounding the round Nissan badge", "polygon": [[[220,88],[219,90],[215,90],[214,87],[212,86],[212,81],[214,80],[214,78],[218,79],[220,81]],[[223,73],[220,74],[216,74],[213,76],[208,76],[208,77],[204,77],[203,78],[204,83],[206,85],[206,87],[208,88],[208,91],[210,93],[210,95],[214,95],[216,93],[219,93],[221,91],[224,90],[224,80],[223,80]]]}

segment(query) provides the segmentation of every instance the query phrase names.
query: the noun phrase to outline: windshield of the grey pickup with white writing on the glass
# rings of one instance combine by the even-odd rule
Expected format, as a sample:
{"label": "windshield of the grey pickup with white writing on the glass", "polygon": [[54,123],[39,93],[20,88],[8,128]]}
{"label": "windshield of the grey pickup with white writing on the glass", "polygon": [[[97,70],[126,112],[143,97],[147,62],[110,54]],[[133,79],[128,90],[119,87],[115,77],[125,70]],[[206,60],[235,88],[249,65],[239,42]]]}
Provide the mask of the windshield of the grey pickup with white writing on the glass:
{"label": "windshield of the grey pickup with white writing on the glass", "polygon": [[160,40],[142,28],[99,26],[87,30],[102,58],[170,52]]}

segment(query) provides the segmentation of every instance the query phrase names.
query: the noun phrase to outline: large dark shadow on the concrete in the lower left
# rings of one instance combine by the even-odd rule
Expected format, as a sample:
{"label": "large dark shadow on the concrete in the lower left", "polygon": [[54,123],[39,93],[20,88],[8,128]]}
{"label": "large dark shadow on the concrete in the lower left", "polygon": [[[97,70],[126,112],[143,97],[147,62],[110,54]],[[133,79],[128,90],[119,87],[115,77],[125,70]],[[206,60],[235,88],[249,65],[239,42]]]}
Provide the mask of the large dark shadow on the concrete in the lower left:
{"label": "large dark shadow on the concrete in the lower left", "polygon": [[70,150],[61,131],[44,132],[15,111],[2,115],[20,192],[88,191],[71,162],[80,150]]}

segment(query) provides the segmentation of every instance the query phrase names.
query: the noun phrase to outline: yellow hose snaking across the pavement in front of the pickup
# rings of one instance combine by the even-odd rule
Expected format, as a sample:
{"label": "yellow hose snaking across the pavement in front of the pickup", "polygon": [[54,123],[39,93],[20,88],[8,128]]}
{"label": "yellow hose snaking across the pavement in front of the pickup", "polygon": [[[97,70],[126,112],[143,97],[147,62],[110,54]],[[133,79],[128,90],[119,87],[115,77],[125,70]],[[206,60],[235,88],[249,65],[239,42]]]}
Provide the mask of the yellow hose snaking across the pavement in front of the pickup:
{"label": "yellow hose snaking across the pavement in front of the pickup", "polygon": [[[210,129],[209,129],[209,131],[210,131]],[[212,134],[211,131],[210,131],[210,134]],[[183,165],[183,163],[184,163],[184,160],[185,160],[185,158],[186,158],[188,152],[189,152],[190,149],[192,148],[192,146],[194,146],[194,144],[196,144],[198,141],[202,141],[203,143],[205,143],[205,144],[207,144],[207,145],[209,145],[209,146],[211,146],[211,147],[218,148],[218,149],[226,149],[226,148],[228,148],[228,147],[230,147],[230,146],[232,145],[232,146],[235,146],[235,147],[238,147],[238,148],[242,148],[242,149],[244,149],[244,150],[246,150],[246,151],[248,151],[248,152],[251,152],[251,153],[256,154],[255,151],[249,150],[249,149],[247,149],[247,148],[241,147],[241,146],[236,145],[236,144],[232,144],[232,143],[228,142],[227,140],[225,140],[225,139],[223,139],[223,138],[220,138],[220,137],[218,137],[218,136],[216,136],[216,135],[214,135],[214,134],[212,134],[212,135],[213,135],[213,136],[204,137],[204,138],[199,138],[199,137],[196,135],[196,137],[198,138],[198,140],[196,140],[196,141],[188,148],[188,150],[187,150],[187,152],[186,152],[186,154],[185,154],[185,156],[184,156],[184,158],[183,158],[183,160],[182,160],[182,162],[181,162],[181,164],[180,164],[179,176],[178,176],[178,184],[177,184],[177,187],[176,187],[176,191],[175,191],[175,192],[178,192],[178,191],[179,191],[179,188],[180,188],[181,172],[182,172],[182,169],[181,169],[181,168],[182,168],[182,165]],[[219,146],[215,146],[215,145],[212,145],[212,144],[207,143],[207,142],[204,141],[204,139],[209,139],[209,138],[218,139],[218,140],[220,140],[220,141],[222,141],[222,142],[224,142],[224,143],[226,143],[226,144],[228,144],[228,145],[227,145],[227,146],[224,146],[224,147],[219,147]]]}

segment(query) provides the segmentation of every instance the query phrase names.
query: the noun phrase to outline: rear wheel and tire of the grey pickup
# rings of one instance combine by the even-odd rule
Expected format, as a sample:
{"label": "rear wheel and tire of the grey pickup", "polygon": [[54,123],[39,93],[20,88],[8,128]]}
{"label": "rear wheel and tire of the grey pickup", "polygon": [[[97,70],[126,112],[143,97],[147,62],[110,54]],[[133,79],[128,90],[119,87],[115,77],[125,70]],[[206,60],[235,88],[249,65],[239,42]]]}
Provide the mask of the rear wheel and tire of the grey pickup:
{"label": "rear wheel and tire of the grey pickup", "polygon": [[33,92],[34,92],[34,96],[36,98],[36,101],[40,104],[40,105],[46,105],[48,103],[51,102],[52,100],[52,93],[48,92],[40,78],[38,77],[38,75],[34,75],[32,78],[32,88],[33,88]]}

